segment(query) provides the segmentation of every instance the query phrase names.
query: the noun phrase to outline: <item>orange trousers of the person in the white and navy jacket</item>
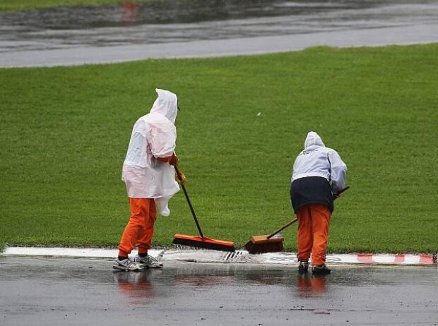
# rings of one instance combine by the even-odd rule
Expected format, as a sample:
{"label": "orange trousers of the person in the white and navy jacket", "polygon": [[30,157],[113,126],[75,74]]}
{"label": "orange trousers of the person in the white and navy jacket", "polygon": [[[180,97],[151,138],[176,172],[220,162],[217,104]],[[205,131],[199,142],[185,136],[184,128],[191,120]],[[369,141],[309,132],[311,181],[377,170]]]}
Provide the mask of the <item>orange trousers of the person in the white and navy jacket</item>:
{"label": "orange trousers of the person in the white and navy jacket", "polygon": [[322,204],[304,205],[297,211],[299,261],[309,261],[312,253],[312,265],[325,264],[330,216],[329,207]]}

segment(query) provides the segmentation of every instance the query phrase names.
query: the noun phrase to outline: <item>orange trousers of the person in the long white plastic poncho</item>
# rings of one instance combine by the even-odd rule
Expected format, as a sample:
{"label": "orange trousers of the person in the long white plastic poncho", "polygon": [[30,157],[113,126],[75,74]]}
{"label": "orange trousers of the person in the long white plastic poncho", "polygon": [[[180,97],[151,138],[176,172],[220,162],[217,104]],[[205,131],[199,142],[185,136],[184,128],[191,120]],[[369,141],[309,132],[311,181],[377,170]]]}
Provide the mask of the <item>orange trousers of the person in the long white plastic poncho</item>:
{"label": "orange trousers of the person in the long white plastic poncho", "polygon": [[148,253],[151,248],[153,226],[157,219],[157,209],[153,198],[129,198],[131,217],[119,243],[119,255],[128,256],[136,246],[138,253]]}

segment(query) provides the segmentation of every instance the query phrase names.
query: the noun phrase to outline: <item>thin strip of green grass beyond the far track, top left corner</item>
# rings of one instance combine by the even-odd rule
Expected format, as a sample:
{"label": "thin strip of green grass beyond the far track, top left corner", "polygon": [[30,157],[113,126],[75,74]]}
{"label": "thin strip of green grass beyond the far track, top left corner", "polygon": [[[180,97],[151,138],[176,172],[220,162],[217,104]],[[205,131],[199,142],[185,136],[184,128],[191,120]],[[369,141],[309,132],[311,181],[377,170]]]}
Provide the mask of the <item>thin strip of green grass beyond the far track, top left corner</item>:
{"label": "thin strip of green grass beyond the far track, top left corner", "polygon": [[140,3],[165,0],[0,0],[0,11],[52,8],[59,6],[95,6],[100,4]]}

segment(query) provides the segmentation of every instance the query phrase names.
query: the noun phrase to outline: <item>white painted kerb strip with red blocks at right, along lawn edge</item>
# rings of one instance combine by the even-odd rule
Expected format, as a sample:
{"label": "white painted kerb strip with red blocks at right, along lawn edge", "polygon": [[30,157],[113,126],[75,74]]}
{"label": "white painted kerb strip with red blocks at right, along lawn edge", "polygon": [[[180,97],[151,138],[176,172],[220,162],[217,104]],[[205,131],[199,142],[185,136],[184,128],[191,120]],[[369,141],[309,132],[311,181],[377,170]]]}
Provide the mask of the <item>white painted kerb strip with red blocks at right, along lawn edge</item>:
{"label": "white painted kerb strip with red blocks at right, along lawn edge", "polygon": [[[71,258],[116,258],[117,249],[107,248],[36,248],[36,247],[6,247],[4,256],[49,256]],[[131,257],[136,255],[131,252]],[[213,263],[249,263],[296,265],[295,253],[264,253],[251,255],[246,250],[237,250],[227,253],[216,250],[149,250],[153,257],[160,256],[160,260],[179,260],[185,262],[213,262]],[[391,255],[391,254],[333,254],[326,256],[329,264],[372,264],[372,265],[437,265],[436,255]]]}

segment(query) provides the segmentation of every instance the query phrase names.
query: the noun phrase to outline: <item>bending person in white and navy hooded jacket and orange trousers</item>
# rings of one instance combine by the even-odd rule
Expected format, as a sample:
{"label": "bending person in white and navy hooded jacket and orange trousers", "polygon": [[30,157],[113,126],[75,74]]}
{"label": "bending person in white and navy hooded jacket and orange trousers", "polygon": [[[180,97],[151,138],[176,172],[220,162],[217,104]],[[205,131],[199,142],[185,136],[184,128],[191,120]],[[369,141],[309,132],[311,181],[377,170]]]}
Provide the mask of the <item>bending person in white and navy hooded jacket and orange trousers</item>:
{"label": "bending person in white and navy hooded jacket and orange trousers", "polygon": [[298,218],[298,270],[329,274],[326,249],[333,199],[345,187],[347,166],[336,150],[326,147],[314,131],[307,133],[304,150],[295,159],[290,200]]}

